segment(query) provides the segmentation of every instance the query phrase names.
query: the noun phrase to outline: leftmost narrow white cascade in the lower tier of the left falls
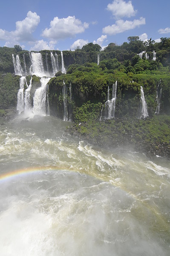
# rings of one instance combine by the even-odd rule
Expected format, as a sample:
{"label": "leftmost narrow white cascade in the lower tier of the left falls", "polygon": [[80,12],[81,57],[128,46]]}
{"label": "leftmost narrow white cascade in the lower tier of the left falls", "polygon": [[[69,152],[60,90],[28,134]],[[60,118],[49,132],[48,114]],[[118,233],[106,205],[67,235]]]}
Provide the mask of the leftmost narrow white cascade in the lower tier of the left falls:
{"label": "leftmost narrow white cascade in the lower tier of the left falls", "polygon": [[24,92],[23,92],[24,84],[26,84],[26,86],[28,87],[26,82],[26,77],[22,76],[20,78],[20,89],[18,90],[18,94],[17,94],[17,111],[19,112],[19,114],[25,109]]}

